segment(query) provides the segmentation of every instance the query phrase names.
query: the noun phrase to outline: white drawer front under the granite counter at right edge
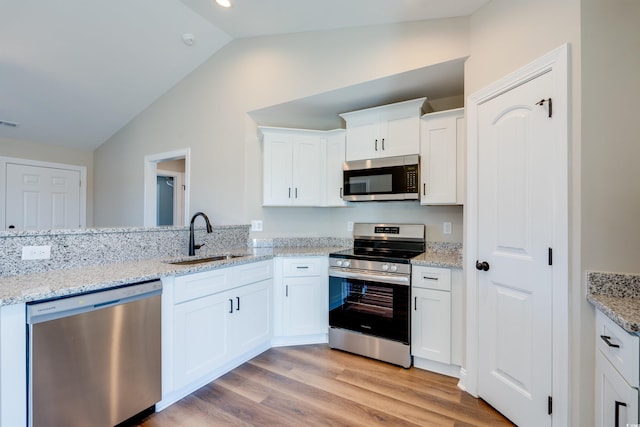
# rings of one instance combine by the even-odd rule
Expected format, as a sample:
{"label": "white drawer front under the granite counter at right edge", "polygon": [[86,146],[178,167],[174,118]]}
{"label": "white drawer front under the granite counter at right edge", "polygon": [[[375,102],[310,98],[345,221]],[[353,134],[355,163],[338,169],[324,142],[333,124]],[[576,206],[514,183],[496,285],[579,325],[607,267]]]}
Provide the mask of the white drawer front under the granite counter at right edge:
{"label": "white drawer front under the granite counter at right edge", "polygon": [[628,333],[596,310],[596,346],[623,378],[637,388],[640,382],[638,336]]}

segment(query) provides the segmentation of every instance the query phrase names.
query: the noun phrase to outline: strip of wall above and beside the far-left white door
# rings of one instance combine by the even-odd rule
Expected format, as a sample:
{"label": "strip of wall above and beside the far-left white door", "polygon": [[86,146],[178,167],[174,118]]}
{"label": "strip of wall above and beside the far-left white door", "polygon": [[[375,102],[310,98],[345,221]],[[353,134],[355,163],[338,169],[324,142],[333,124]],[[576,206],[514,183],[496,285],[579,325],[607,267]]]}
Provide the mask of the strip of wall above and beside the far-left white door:
{"label": "strip of wall above and beside the far-left white door", "polygon": [[85,166],[87,168],[87,227],[93,225],[93,151],[0,137],[0,156]]}

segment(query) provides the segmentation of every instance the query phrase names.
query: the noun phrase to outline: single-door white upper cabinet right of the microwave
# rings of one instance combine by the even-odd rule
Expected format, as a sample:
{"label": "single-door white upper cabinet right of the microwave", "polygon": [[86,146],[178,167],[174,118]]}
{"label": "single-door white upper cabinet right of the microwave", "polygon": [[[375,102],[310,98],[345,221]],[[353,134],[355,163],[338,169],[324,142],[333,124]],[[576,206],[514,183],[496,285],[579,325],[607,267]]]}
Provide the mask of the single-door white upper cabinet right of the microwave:
{"label": "single-door white upper cabinet right of the microwave", "polygon": [[421,120],[420,203],[462,204],[464,109],[425,114]]}

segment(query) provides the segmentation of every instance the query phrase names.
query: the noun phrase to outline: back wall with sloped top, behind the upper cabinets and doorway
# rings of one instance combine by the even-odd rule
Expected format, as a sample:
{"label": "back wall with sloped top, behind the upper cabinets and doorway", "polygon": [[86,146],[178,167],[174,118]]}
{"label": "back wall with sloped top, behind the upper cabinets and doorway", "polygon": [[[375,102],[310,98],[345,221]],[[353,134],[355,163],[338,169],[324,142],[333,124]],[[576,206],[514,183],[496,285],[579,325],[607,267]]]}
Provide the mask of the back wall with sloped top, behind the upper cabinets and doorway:
{"label": "back wall with sloped top, behind the upper cabinets and doorway", "polygon": [[463,58],[468,49],[467,18],[236,40],[96,150],[95,222],[141,225],[144,155],[191,147],[191,211],[214,224],[263,219],[255,237],[346,237],[347,220],[446,218],[454,234],[437,236],[441,226],[430,234],[461,241],[460,207],[263,209],[262,144],[247,113]]}

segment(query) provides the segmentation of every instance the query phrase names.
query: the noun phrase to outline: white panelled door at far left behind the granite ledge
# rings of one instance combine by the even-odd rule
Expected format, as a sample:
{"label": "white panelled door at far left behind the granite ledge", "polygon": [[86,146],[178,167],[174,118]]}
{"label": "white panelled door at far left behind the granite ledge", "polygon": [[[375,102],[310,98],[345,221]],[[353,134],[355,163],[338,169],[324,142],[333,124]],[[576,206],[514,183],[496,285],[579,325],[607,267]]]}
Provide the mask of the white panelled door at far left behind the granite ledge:
{"label": "white panelled door at far left behind the granite ledge", "polygon": [[82,226],[78,170],[7,163],[6,178],[5,228]]}

